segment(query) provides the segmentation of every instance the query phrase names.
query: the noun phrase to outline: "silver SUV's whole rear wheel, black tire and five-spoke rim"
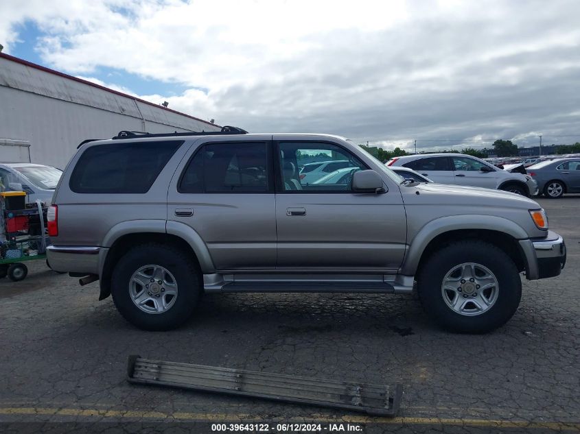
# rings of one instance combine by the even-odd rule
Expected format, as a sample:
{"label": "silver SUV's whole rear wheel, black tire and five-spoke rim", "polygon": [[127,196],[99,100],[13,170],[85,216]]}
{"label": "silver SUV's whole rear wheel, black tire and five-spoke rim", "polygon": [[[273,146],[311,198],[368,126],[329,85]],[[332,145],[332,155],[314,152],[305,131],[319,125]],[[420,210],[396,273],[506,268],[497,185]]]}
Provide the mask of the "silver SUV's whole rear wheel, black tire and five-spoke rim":
{"label": "silver SUV's whole rear wheel, black tire and five-spoke rim", "polygon": [[117,309],[143,330],[170,330],[192,315],[201,290],[200,272],[187,254],[170,245],[137,245],[113,271]]}

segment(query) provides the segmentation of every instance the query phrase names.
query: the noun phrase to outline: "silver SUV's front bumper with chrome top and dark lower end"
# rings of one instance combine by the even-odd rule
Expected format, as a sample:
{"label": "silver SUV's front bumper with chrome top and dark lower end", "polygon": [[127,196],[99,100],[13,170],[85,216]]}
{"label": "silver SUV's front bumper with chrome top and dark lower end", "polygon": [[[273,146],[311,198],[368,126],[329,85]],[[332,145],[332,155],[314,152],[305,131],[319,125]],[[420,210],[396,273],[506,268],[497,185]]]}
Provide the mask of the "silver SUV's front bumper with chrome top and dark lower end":
{"label": "silver SUV's front bumper with chrome top and dark lower end", "polygon": [[556,232],[548,230],[546,238],[521,240],[520,246],[526,256],[528,280],[558,276],[566,265],[566,243]]}

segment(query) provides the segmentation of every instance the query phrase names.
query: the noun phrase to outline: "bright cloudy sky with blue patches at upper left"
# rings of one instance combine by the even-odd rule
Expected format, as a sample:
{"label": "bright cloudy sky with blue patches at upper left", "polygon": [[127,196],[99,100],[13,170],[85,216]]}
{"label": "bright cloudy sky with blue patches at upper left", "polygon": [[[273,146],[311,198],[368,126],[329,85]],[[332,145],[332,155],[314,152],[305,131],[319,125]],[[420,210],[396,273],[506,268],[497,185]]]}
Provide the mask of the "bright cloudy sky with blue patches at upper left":
{"label": "bright cloudy sky with blue patches at upper left", "polygon": [[0,0],[0,43],[251,132],[525,146],[580,141],[579,16],[577,0]]}

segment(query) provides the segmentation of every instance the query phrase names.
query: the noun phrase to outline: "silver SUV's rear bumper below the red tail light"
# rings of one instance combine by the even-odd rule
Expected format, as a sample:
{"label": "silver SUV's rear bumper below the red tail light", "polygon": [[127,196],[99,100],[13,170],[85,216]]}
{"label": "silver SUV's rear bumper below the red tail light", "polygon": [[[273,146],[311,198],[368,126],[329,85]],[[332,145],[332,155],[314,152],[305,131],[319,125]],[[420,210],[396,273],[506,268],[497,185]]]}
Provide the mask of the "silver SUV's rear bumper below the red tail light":
{"label": "silver SUV's rear bumper below the red tail light", "polygon": [[99,274],[102,249],[49,245],[47,259],[51,269],[57,272]]}

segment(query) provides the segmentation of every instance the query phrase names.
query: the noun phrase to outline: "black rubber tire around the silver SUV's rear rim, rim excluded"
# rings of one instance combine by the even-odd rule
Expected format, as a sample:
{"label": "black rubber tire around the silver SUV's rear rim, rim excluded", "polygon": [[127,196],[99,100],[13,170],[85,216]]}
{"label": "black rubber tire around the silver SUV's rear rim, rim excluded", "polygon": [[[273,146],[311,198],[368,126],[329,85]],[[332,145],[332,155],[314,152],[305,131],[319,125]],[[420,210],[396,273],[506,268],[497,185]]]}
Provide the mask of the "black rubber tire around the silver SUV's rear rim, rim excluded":
{"label": "black rubber tire around the silver SUV's rear rim, rim excluded", "polygon": [[[130,280],[137,270],[146,265],[165,268],[174,276],[177,295],[163,313],[147,313],[137,307],[130,296]],[[144,289],[143,289],[144,290]],[[146,243],[136,245],[115,265],[111,280],[111,294],[117,310],[123,317],[143,330],[171,330],[192,316],[202,291],[202,276],[194,259],[172,245]]]}

